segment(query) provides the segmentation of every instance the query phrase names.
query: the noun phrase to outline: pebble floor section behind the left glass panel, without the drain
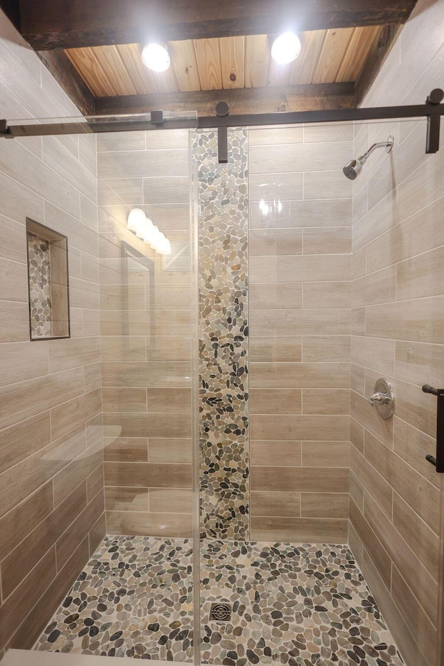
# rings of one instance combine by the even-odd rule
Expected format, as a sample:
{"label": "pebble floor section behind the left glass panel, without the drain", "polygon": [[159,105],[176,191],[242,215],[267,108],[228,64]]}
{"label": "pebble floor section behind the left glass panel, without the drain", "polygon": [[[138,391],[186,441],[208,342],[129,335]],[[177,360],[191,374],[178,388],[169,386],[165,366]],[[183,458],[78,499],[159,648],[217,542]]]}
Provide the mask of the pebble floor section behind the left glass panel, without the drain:
{"label": "pebble floor section behind the left glass panel, without the drain", "polygon": [[192,542],[106,536],[37,649],[193,660]]}

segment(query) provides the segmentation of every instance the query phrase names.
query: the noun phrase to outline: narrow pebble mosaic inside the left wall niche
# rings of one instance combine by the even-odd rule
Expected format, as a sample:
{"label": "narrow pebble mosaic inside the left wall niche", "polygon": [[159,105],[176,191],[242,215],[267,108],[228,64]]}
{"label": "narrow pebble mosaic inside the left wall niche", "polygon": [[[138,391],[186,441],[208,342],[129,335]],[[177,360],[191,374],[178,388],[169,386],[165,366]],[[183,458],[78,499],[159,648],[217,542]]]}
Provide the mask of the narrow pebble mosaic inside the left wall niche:
{"label": "narrow pebble mosaic inside the left wall niche", "polygon": [[52,314],[49,242],[31,235],[28,235],[28,273],[31,337],[50,338]]}

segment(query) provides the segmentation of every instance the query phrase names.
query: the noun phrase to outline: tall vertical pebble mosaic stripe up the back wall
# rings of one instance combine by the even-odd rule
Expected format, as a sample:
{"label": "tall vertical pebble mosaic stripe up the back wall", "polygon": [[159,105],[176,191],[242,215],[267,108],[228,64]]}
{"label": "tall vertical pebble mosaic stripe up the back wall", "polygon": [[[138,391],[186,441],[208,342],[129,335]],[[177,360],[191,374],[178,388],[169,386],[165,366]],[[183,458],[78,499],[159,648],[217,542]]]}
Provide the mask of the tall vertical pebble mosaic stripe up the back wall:
{"label": "tall vertical pebble mosaic stripe up the back wall", "polygon": [[248,540],[247,133],[198,132],[201,538]]}

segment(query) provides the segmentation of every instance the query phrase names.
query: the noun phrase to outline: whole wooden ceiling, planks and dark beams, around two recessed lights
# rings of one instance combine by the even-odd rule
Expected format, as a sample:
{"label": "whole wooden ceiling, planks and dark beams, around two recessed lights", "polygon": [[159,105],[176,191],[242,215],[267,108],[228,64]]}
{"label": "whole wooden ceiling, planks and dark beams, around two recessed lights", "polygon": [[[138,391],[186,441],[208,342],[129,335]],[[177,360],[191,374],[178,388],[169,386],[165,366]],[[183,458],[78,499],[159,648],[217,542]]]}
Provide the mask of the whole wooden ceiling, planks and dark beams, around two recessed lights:
{"label": "whole wooden ceiling, planks and dark beams, around two recessed lights", "polygon": [[[416,0],[0,0],[85,115],[196,110],[232,115],[359,105]],[[298,26],[291,64],[274,37]],[[155,73],[141,44],[167,43]]]}

